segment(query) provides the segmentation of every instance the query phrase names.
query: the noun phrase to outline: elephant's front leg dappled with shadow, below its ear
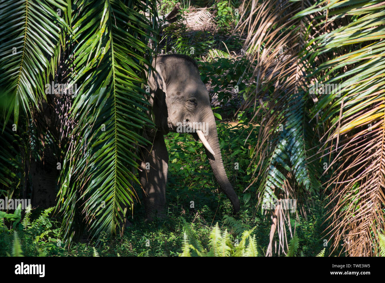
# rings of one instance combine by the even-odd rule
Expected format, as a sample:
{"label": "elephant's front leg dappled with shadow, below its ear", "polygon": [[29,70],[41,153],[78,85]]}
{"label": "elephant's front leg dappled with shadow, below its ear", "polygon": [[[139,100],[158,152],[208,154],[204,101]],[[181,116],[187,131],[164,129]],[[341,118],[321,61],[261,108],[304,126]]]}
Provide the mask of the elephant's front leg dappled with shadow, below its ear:
{"label": "elephant's front leg dappled with shadow, below its ear", "polygon": [[165,217],[168,153],[163,134],[158,132],[152,146],[142,149],[141,155],[139,178],[144,190],[146,221],[152,221],[155,215]]}

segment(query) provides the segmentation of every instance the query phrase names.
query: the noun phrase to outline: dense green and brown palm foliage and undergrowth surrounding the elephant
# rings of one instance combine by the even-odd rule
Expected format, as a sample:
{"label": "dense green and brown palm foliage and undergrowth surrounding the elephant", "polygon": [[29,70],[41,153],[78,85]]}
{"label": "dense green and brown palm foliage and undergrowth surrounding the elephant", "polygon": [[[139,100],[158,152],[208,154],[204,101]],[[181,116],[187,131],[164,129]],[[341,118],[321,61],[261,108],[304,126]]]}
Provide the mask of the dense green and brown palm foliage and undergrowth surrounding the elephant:
{"label": "dense green and brown palm foliage and undergrowth surrounding the elephant", "polygon": [[[0,256],[384,256],[384,4],[199,0],[162,18],[177,2],[2,3],[0,198],[39,208],[0,211]],[[198,62],[234,218],[202,143],[169,133],[167,218],[142,221],[157,53]]]}

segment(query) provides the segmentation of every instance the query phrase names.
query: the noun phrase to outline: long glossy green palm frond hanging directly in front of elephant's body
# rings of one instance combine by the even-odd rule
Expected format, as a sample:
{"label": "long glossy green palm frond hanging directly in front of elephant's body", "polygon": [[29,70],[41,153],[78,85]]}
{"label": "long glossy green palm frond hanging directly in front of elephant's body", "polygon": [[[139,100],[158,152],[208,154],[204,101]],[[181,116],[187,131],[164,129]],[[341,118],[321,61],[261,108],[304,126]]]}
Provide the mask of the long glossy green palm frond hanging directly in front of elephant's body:
{"label": "long glossy green palm frond hanging directly in front of elephant's body", "polygon": [[139,11],[147,6],[78,4],[71,18],[77,44],[69,74],[78,89],[70,110],[76,126],[59,191],[66,239],[77,230],[72,223],[79,223],[79,213],[92,237],[117,233],[136,197],[137,144],[148,143],[141,130],[151,123],[141,88],[144,63],[150,65],[146,42],[152,24]]}

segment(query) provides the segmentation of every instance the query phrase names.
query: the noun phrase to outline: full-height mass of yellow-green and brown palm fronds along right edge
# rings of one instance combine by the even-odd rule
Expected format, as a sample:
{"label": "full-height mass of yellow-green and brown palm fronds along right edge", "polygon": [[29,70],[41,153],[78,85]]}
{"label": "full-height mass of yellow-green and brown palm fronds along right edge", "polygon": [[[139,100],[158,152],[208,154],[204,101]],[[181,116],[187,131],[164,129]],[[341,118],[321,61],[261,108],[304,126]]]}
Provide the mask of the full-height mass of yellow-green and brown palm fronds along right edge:
{"label": "full-height mass of yellow-green and brown palm fronds along right edge", "polygon": [[313,114],[320,114],[331,159],[326,173],[333,250],[342,241],[350,256],[378,255],[378,231],[385,228],[384,8],[380,1],[312,7],[330,14],[320,24],[327,33],[315,37],[311,52],[324,57],[311,75],[340,88],[318,95]]}

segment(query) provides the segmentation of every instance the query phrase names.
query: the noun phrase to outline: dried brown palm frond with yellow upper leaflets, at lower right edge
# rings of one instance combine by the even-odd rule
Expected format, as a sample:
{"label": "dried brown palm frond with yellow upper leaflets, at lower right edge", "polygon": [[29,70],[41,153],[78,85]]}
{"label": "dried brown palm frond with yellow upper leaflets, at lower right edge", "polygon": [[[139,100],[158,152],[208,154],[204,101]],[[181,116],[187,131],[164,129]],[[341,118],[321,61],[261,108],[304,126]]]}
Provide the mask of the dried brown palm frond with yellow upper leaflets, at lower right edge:
{"label": "dried brown palm frond with yellow upper leaflets, at lower right edge", "polygon": [[327,140],[336,155],[329,166],[335,172],[328,182],[332,189],[330,234],[335,243],[343,241],[351,256],[378,255],[377,231],[385,228],[385,90],[381,77],[370,76],[372,86],[364,92],[358,90],[365,80],[346,88],[347,93],[355,93],[342,98],[340,117]]}

